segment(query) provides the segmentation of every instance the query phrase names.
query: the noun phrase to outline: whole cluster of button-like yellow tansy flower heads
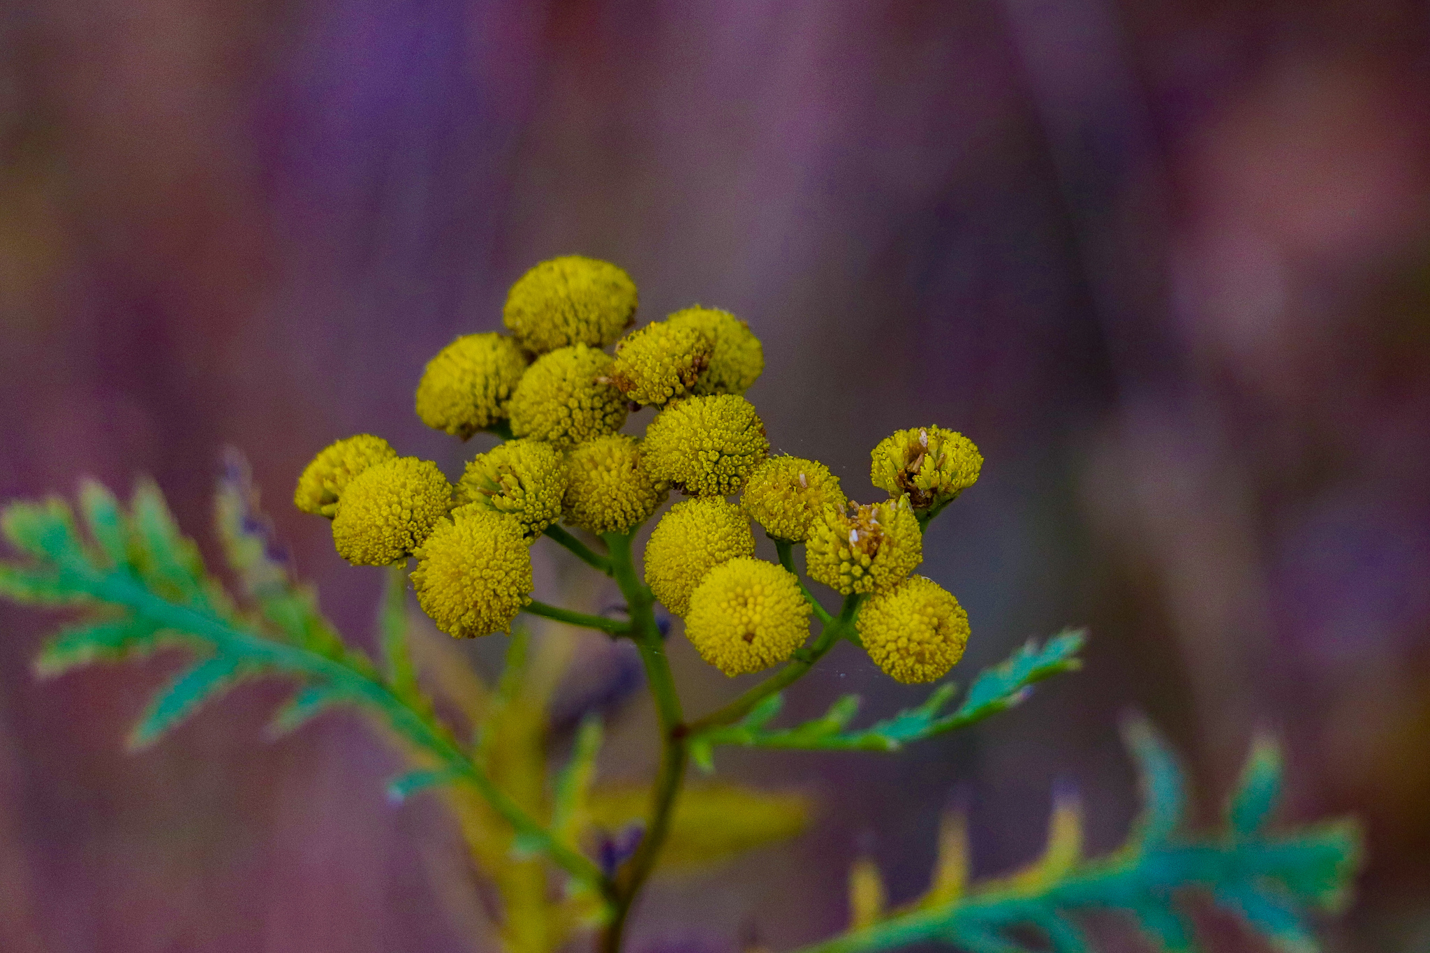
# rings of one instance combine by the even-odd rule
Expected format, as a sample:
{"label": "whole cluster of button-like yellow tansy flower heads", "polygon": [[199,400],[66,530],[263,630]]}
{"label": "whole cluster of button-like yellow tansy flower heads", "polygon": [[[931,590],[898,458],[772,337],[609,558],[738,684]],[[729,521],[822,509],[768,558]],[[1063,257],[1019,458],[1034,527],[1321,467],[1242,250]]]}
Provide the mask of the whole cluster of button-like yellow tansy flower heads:
{"label": "whole cluster of button-like yellow tansy flower heads", "polygon": [[[332,520],[339,554],[355,564],[415,559],[418,604],[443,632],[472,637],[543,609],[532,604],[535,540],[552,536],[613,572],[559,524],[628,552],[675,490],[688,499],[651,532],[644,579],[721,672],[779,664],[805,643],[811,613],[832,620],[792,572],[798,544],[809,579],[845,596],[834,624],[881,669],[899,682],[948,672],[968,616],[911,573],[924,526],[978,479],[974,443],[935,426],[894,433],[871,454],[871,482],[888,499],[854,503],[822,463],[771,454],[744,396],[764,370],[744,321],[695,306],[631,330],[636,304],[635,283],[613,264],[538,264],[511,289],[508,333],[458,337],[416,387],[423,423],[463,440],[486,431],[496,446],[453,486],[436,463],[358,434],[313,459],[295,503]],[[623,433],[642,411],[652,414],[644,434]],[[755,557],[751,522],[776,542],[781,563]]]}

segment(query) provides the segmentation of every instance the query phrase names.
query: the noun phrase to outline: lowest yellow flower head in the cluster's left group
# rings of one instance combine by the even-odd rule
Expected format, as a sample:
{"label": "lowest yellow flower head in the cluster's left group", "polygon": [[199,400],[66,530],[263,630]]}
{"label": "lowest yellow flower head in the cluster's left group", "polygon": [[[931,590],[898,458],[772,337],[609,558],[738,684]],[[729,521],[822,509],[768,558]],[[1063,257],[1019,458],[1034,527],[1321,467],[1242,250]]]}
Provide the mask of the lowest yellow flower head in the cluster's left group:
{"label": "lowest yellow flower head in the cluster's left group", "polygon": [[422,612],[449,636],[506,632],[532,592],[532,557],[521,523],[459,506],[418,550],[412,586]]}

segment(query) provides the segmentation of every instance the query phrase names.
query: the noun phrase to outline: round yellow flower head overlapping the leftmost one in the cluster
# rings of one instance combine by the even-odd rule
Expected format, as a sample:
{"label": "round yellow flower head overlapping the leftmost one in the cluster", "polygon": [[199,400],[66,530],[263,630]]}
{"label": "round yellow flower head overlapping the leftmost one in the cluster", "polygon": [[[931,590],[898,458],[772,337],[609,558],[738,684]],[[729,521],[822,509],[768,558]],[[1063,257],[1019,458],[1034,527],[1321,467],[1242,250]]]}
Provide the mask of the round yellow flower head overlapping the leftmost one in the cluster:
{"label": "round yellow flower head overlapping the leftmost one in the cluster", "polygon": [[370,466],[337,502],[337,554],[353,566],[395,563],[422,546],[450,500],[452,484],[430,460],[398,457]]}

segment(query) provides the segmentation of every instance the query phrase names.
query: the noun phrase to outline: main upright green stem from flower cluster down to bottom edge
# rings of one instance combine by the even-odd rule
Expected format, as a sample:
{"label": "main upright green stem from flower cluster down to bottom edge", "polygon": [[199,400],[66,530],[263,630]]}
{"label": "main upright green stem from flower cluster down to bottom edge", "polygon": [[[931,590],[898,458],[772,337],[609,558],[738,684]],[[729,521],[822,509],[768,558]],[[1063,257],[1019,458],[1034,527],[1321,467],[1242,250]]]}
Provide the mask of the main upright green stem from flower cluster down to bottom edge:
{"label": "main upright green stem from flower cluster down to bottom edge", "polygon": [[675,800],[679,796],[681,782],[685,777],[689,750],[686,729],[682,723],[681,699],[675,690],[675,679],[671,676],[671,664],[665,657],[665,644],[655,622],[655,596],[651,594],[651,587],[641,582],[636,574],[635,563],[631,557],[631,534],[608,533],[602,539],[611,550],[611,566],[615,572],[615,580],[621,586],[621,592],[625,594],[626,604],[631,609],[631,636],[635,640],[636,649],[641,650],[646,682],[651,686],[655,710],[661,719],[662,740],[661,770],[651,792],[651,817],[646,822],[645,836],[641,839],[641,844],[616,882],[611,920],[601,937],[603,953],[619,953],[621,937],[631,914],[631,906],[655,869],[661,847],[665,846],[666,834],[671,832],[671,817],[675,813]]}

